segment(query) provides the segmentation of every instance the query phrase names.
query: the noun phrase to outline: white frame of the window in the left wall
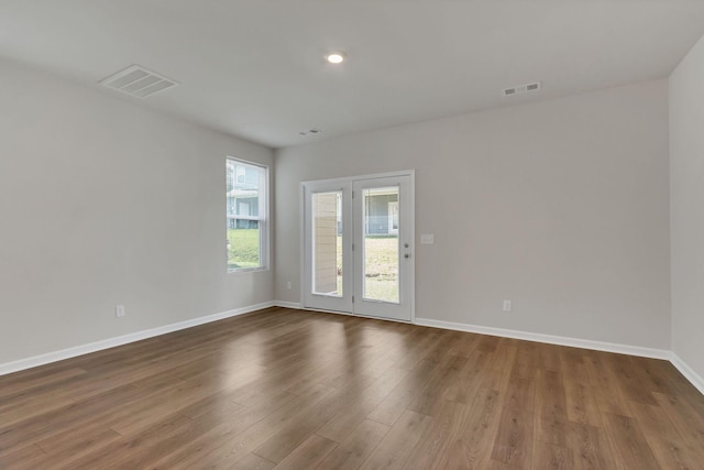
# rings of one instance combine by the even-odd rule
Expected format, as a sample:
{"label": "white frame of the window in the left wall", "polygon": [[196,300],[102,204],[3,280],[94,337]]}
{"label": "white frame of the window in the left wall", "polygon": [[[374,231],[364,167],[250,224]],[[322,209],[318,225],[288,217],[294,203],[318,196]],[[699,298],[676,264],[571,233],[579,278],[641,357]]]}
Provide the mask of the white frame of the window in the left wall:
{"label": "white frame of the window in the left wall", "polygon": [[[228,156],[226,157],[226,174],[227,174],[228,162],[243,163],[245,165],[256,166],[264,170],[264,175],[260,181],[258,216],[237,216],[237,208],[235,208],[234,216],[232,216],[231,214],[228,214],[227,181],[226,181],[226,240],[228,240],[228,245],[229,245],[228,230],[229,230],[230,220],[257,220],[260,222],[258,223],[260,226],[260,265],[253,266],[253,267],[230,267],[228,263],[230,259],[230,253],[228,250],[228,252],[226,253],[226,260],[224,260],[228,274],[252,272],[252,271],[266,271],[268,270],[268,253],[270,253],[270,240],[271,240],[270,230],[268,230],[268,227],[270,227],[270,223],[268,223],[270,168],[267,165],[264,165],[262,163],[250,162],[248,160],[237,159],[234,156]],[[233,179],[234,179],[234,183],[237,184],[238,183],[237,171]],[[264,186],[264,188],[262,188],[262,186]]]}

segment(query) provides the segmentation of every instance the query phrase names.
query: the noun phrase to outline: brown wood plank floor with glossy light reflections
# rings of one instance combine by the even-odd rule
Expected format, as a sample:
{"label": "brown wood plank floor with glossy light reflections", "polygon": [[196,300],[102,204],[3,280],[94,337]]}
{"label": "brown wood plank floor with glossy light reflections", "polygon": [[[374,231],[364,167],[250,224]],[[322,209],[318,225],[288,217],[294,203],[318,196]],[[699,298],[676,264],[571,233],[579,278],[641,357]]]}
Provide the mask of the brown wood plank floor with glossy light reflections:
{"label": "brown wood plank floor with glossy light reflections", "polygon": [[1,469],[704,469],[669,362],[271,308],[0,376]]}

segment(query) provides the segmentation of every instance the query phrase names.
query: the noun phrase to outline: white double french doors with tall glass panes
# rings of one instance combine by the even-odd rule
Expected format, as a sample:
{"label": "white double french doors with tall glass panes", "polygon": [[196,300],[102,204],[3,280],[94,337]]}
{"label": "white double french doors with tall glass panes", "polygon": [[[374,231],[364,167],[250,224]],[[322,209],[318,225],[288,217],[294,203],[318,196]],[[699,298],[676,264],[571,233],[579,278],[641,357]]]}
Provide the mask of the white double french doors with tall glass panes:
{"label": "white double french doors with tall glass panes", "polygon": [[302,184],[305,307],[413,319],[413,177]]}

